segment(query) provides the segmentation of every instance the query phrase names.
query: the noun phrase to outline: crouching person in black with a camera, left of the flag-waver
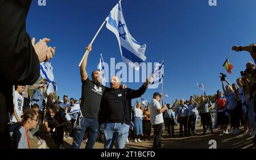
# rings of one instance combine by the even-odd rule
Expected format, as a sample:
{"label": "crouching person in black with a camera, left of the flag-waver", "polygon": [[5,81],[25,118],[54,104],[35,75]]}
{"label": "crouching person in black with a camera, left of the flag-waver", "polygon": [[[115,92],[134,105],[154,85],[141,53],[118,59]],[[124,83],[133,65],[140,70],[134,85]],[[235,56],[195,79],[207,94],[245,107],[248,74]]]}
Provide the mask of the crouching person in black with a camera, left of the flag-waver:
{"label": "crouching person in black with a camera, left of the flag-waver", "polygon": [[51,104],[47,110],[44,125],[47,132],[52,134],[52,138],[58,145],[59,149],[63,149],[64,130],[68,127],[68,122],[65,118],[65,111],[63,108],[56,107]]}

